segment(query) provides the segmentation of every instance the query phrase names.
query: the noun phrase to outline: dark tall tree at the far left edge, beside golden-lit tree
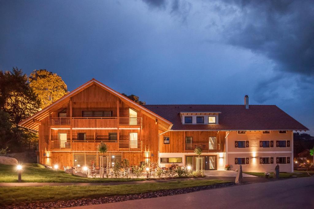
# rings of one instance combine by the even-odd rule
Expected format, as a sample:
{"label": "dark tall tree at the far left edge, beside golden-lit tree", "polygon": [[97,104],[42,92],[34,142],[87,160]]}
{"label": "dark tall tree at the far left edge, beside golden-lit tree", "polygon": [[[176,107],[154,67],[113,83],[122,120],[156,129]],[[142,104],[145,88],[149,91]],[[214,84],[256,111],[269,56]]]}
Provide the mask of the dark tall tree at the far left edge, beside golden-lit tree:
{"label": "dark tall tree at the far left edge, beside golden-lit tree", "polygon": [[40,101],[22,70],[0,71],[0,147],[9,146],[15,151],[37,138],[18,123],[35,114],[39,106]]}

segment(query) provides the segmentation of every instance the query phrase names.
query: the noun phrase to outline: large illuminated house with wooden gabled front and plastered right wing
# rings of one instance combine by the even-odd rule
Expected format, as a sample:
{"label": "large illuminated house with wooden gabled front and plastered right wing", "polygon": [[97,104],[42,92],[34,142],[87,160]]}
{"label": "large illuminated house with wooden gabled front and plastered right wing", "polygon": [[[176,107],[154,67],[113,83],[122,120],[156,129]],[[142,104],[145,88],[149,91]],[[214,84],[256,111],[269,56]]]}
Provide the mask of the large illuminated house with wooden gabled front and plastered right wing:
{"label": "large illuminated house with wooden gabled front and plastered right wing", "polygon": [[[243,165],[244,171],[293,170],[293,131],[308,130],[275,105],[144,105],[92,79],[20,126],[39,134],[41,164],[97,165],[128,159],[205,170]],[[108,146],[105,154],[97,145]]]}

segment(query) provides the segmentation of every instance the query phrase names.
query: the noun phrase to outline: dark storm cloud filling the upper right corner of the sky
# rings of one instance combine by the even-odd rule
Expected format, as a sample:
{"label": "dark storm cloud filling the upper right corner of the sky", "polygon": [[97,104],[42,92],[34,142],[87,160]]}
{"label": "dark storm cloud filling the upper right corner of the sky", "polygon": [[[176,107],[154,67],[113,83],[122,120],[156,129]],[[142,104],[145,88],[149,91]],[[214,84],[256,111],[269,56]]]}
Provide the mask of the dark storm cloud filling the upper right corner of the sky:
{"label": "dark storm cloud filling the upper right corner of the sky", "polygon": [[[275,70],[314,76],[313,1],[228,1],[239,11],[224,36],[228,44],[261,53]],[[234,8],[232,8],[234,9]]]}

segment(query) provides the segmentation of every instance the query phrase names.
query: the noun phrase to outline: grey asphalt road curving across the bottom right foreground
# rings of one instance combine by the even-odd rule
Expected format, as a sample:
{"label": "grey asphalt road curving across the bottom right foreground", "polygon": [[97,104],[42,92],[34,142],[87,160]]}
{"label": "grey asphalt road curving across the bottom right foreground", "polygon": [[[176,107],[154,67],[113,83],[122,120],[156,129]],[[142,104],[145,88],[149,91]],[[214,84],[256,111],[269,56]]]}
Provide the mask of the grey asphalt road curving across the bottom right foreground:
{"label": "grey asphalt road curving across the bottom right foreground", "polygon": [[314,177],[253,183],[87,208],[314,208]]}

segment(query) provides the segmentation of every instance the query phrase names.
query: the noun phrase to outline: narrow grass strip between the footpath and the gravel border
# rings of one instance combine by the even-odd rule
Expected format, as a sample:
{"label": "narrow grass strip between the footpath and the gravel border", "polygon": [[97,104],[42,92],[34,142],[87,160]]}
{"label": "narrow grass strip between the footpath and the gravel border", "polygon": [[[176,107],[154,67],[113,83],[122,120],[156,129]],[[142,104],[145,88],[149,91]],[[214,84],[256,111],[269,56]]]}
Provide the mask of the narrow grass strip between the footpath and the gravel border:
{"label": "narrow grass strip between the footpath and the gravel border", "polygon": [[179,189],[195,186],[228,183],[226,180],[189,180],[166,183],[145,183],[137,185],[111,186],[41,186],[0,187],[0,205],[30,203],[34,201],[73,200],[103,196],[139,194],[152,191]]}

